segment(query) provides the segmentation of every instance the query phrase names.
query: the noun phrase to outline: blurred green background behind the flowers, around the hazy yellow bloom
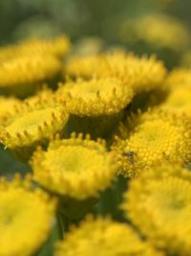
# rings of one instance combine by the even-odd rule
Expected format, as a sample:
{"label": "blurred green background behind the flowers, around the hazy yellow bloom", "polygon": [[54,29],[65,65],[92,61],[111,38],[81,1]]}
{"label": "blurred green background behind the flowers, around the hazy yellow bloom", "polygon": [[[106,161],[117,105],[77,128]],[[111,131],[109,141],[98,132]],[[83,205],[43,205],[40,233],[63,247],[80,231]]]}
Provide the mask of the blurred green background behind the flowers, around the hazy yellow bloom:
{"label": "blurred green background behind the flowers, around the hazy yellow bloom", "polygon": [[[190,41],[180,44],[184,36],[179,32],[171,38],[173,49],[169,44],[159,48],[159,44],[148,45],[136,37],[135,28],[131,28],[131,23],[130,27],[126,24],[132,19],[133,23],[137,20],[141,24],[141,16],[162,13],[175,18],[190,34],[190,10],[190,0],[0,0],[0,45],[31,36],[53,37],[66,33],[77,43],[77,50],[91,47],[96,52],[101,47],[122,46],[138,54],[155,53],[169,68],[181,62],[190,65],[191,54],[185,57]],[[164,26],[163,35],[168,35],[169,30]],[[132,35],[133,42],[129,41]],[[178,44],[179,49],[175,50],[173,44]]]}

